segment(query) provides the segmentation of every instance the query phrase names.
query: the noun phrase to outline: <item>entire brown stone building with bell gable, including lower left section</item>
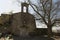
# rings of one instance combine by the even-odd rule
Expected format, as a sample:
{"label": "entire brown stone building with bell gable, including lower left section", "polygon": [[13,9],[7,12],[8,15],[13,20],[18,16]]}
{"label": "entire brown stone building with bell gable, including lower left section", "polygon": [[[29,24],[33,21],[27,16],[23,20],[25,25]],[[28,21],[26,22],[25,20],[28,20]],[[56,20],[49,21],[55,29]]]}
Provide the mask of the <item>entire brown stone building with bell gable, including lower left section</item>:
{"label": "entire brown stone building with bell gable, including lower left section", "polygon": [[[24,7],[25,12],[24,12]],[[21,4],[21,12],[9,14],[2,14],[0,16],[0,25],[4,27],[7,25],[7,28],[0,26],[0,32],[11,32],[14,35],[28,36],[30,32],[33,32],[36,28],[35,17],[28,12],[29,4]],[[8,24],[9,25],[8,25]]]}

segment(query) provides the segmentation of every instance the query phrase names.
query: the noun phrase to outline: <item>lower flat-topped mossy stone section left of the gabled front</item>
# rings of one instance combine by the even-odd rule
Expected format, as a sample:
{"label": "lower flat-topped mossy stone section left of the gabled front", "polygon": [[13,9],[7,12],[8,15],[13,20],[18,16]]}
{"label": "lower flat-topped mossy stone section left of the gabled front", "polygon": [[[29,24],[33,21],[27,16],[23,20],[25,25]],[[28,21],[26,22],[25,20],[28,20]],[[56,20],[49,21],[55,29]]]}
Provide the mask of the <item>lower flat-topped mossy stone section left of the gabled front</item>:
{"label": "lower flat-topped mossy stone section left of the gabled front", "polygon": [[0,33],[5,33],[9,31],[9,18],[11,15],[2,14],[0,16]]}

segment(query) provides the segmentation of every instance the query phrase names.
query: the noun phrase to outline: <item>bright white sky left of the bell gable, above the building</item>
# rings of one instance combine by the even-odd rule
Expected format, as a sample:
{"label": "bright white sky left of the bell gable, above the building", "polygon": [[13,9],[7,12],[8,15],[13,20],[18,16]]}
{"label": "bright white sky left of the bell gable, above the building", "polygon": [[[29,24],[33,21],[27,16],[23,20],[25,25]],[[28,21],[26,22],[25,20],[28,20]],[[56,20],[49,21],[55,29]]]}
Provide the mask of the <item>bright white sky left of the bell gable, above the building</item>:
{"label": "bright white sky left of the bell gable, above the building", "polygon": [[0,13],[9,11],[20,11],[20,8],[12,0],[0,0]]}

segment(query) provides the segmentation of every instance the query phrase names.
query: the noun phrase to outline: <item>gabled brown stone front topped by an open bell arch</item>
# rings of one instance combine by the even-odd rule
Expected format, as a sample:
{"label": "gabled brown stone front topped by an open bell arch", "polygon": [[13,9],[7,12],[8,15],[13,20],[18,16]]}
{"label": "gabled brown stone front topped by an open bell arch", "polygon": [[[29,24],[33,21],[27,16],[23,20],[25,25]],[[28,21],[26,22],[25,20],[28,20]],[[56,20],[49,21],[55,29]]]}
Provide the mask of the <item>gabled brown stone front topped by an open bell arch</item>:
{"label": "gabled brown stone front topped by an open bell arch", "polygon": [[[28,12],[27,3],[22,3],[21,6],[21,12],[13,14],[11,31],[15,35],[27,36],[36,28],[35,18]],[[24,7],[26,7],[26,12],[23,12]]]}

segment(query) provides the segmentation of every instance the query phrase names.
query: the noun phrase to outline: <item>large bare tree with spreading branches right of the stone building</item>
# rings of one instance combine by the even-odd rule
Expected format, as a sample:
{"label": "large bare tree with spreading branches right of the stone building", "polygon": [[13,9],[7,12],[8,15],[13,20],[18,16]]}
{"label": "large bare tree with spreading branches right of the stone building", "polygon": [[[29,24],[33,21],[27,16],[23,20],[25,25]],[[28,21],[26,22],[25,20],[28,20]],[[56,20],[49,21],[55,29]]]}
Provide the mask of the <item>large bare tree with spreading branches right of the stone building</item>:
{"label": "large bare tree with spreading branches right of the stone building", "polygon": [[59,5],[54,4],[52,0],[37,0],[37,4],[33,4],[28,0],[33,10],[41,17],[45,25],[48,27],[48,37],[51,37],[52,27],[55,25]]}

